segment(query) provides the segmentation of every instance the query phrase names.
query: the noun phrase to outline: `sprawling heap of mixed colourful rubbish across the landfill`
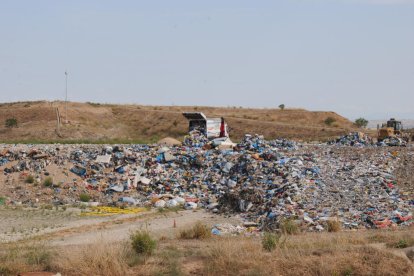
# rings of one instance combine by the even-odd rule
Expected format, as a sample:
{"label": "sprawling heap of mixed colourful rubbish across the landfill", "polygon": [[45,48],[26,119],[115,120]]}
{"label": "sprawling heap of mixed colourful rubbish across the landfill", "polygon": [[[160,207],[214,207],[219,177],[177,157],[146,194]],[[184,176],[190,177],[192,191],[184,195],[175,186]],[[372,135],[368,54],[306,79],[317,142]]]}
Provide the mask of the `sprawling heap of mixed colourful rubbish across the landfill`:
{"label": "sprawling heap of mixed colourful rubbish across the landfill", "polygon": [[0,196],[31,206],[73,204],[87,194],[92,206],[205,208],[238,214],[250,230],[277,230],[286,220],[306,231],[323,231],[332,219],[345,229],[404,226],[413,223],[413,194],[400,191],[394,171],[400,151],[412,149],[398,150],[259,135],[234,145],[197,131],[170,147],[1,145]]}

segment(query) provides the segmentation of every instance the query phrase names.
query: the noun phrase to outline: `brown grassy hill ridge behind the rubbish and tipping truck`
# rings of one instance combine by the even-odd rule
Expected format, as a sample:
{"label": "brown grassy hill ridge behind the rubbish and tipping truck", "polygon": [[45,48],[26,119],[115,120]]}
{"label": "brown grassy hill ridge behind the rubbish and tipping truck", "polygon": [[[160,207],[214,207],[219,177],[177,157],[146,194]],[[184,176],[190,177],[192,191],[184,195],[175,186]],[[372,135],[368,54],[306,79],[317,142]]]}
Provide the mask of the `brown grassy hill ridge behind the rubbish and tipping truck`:
{"label": "brown grassy hill ridge behind the rubbish and tipping truck", "polygon": [[[68,103],[65,123],[63,102],[0,104],[0,142],[154,142],[163,137],[182,139],[187,133],[184,111],[200,111],[207,117],[224,117],[233,140],[246,133],[267,139],[327,140],[354,130],[352,122],[334,112],[303,109],[253,109],[236,107],[142,106]],[[57,132],[56,108],[62,124]],[[330,125],[325,120],[332,117]],[[16,128],[5,121],[16,118]]]}

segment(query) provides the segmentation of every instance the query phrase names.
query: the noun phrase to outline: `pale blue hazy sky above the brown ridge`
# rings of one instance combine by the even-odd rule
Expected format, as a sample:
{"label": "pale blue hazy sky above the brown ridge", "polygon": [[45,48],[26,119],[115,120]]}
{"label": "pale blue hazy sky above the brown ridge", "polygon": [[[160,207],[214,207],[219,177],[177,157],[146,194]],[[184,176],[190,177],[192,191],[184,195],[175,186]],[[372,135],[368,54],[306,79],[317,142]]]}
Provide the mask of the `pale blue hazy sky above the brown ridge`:
{"label": "pale blue hazy sky above the brown ridge", "polygon": [[[414,0],[0,0],[0,102],[414,118]],[[394,98],[392,98],[394,97]]]}

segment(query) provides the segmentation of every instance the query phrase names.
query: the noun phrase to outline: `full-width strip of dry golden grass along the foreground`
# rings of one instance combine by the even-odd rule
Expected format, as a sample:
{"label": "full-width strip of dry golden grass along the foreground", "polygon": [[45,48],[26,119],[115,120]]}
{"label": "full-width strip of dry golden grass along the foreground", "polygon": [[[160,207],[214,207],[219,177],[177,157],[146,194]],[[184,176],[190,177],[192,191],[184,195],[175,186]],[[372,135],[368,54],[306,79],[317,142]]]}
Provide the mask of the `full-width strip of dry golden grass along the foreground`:
{"label": "full-width strip of dry golden grass along the foreground", "polygon": [[377,246],[401,239],[414,239],[412,229],[287,235],[271,252],[258,237],[163,239],[151,256],[136,254],[129,241],[97,241],[53,253],[46,247],[10,246],[1,251],[0,275],[36,270],[62,275],[413,275],[401,249]]}

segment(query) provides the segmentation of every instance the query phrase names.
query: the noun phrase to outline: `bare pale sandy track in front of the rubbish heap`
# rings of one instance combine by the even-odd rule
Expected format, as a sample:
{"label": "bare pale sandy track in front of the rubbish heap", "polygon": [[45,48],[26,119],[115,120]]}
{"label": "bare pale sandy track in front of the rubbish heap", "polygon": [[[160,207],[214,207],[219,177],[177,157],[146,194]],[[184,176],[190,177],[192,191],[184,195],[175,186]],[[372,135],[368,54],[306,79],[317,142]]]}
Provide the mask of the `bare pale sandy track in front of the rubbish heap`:
{"label": "bare pale sandy track in front of the rubbish heap", "polygon": [[[80,216],[79,209],[0,209],[0,243],[40,239],[51,245],[80,245],[97,240],[122,241],[134,230],[145,229],[157,237],[175,237],[180,229],[197,221],[212,226],[240,224],[236,217],[224,217],[204,210],[160,213],[156,210],[134,215]],[[174,221],[175,226],[174,227]]]}

